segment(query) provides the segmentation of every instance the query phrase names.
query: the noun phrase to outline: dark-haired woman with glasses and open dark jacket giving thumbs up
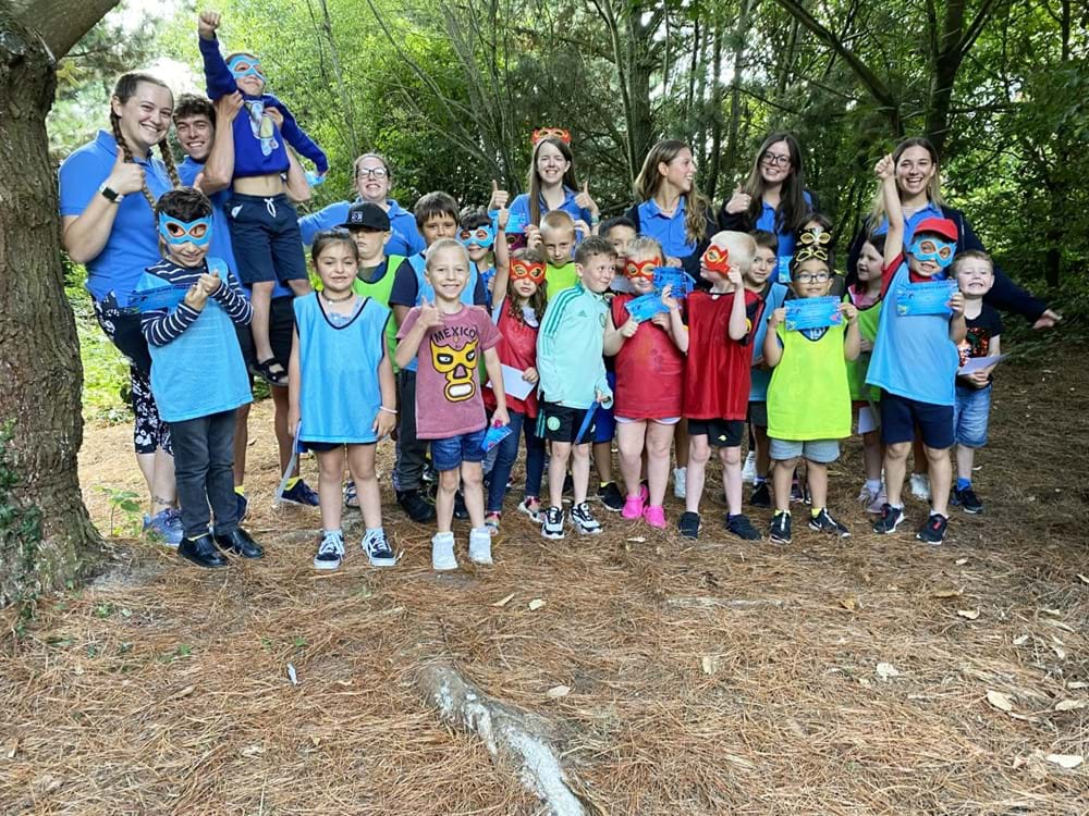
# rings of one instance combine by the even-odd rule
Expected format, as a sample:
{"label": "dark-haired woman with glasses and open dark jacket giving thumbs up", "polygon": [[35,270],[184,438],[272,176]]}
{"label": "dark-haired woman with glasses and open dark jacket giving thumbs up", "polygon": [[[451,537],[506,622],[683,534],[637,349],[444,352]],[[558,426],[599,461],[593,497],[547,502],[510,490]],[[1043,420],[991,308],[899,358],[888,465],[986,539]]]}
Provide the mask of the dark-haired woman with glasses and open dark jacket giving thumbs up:
{"label": "dark-haired woman with glasses and open dark jacket giving thumbs up", "polygon": [[795,236],[813,209],[797,139],[788,133],[773,133],[760,145],[748,178],[722,205],[719,228],[774,233],[785,269],[794,255]]}

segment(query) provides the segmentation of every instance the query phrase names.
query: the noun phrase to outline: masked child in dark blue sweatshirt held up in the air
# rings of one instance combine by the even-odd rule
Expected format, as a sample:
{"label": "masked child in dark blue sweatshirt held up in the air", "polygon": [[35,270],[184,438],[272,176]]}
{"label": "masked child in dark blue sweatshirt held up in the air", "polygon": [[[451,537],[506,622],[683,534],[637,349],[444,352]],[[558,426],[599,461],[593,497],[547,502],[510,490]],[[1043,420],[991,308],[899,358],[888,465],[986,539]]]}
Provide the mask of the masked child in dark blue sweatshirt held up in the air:
{"label": "masked child in dark blue sweatshirt held up in the air", "polygon": [[[287,372],[277,360],[269,341],[269,312],[277,281],[295,295],[310,290],[298,231],[298,213],[284,191],[287,172],[284,140],[314,162],[319,175],[329,170],[326,154],[295,122],[287,107],[265,92],[265,73],[250,53],[225,59],[216,32],[221,16],[200,14],[197,24],[208,97],[216,101],[241,92],[243,109],[232,123],[234,135],[233,195],[227,205],[231,243],[242,282],[252,287],[252,331],[256,373],[272,385],[286,385]],[[277,111],[276,114],[270,111]],[[277,125],[276,119],[282,119]]]}

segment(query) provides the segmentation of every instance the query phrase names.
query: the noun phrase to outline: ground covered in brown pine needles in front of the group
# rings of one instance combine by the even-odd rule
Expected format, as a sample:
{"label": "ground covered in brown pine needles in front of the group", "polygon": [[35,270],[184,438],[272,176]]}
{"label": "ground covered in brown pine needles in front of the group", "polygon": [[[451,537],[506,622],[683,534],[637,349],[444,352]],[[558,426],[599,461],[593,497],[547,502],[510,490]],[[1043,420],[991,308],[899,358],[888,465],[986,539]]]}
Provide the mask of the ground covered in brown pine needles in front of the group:
{"label": "ground covered in brown pine needles in front of the group", "polygon": [[[845,544],[743,545],[713,500],[695,545],[619,516],[543,542],[512,511],[495,567],[436,576],[430,531],[390,505],[401,565],[355,545],[319,576],[316,511],[271,509],[258,440],[264,562],[205,573],[119,541],[109,574],[3,645],[0,812],[540,813],[418,691],[439,662],[541,718],[589,813],[1085,814],[1089,762],[1047,757],[1089,759],[1089,393],[1052,364],[1002,372],[987,514],[956,512],[935,549],[866,531],[852,445]],[[125,428],[88,431],[103,529],[95,486],[138,487],[129,450]]]}

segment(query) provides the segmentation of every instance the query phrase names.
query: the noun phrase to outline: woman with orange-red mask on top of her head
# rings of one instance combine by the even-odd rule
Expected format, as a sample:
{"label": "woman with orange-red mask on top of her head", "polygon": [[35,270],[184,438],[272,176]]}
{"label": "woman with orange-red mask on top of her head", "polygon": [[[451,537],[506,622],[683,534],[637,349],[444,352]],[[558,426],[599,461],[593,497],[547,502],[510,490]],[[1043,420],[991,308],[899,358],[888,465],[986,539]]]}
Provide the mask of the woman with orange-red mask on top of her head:
{"label": "woman with orange-red mask on top of her head", "polygon": [[516,196],[511,202],[512,220],[540,226],[546,213],[563,210],[576,221],[583,220],[592,227],[600,218],[600,211],[585,184],[579,191],[575,158],[568,144],[571,135],[558,128],[549,128],[544,133],[550,135],[535,134],[529,191]]}

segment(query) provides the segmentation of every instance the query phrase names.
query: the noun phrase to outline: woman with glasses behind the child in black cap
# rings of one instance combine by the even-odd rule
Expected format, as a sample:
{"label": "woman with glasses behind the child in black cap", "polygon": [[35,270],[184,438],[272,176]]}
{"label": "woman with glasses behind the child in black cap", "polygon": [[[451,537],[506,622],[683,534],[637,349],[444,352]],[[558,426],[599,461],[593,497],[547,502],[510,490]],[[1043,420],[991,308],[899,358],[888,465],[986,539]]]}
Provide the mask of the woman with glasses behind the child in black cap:
{"label": "woman with glasses behind the child in black cap", "polygon": [[379,153],[364,153],[355,160],[353,171],[355,190],[359,197],[355,201],[338,201],[298,220],[303,233],[303,244],[309,246],[314,236],[322,230],[332,230],[347,222],[347,211],[353,203],[370,201],[386,210],[390,217],[390,239],[386,242],[386,255],[402,258],[423,252],[427,244],[416,227],[416,217],[389,198],[393,186],[390,164]]}

